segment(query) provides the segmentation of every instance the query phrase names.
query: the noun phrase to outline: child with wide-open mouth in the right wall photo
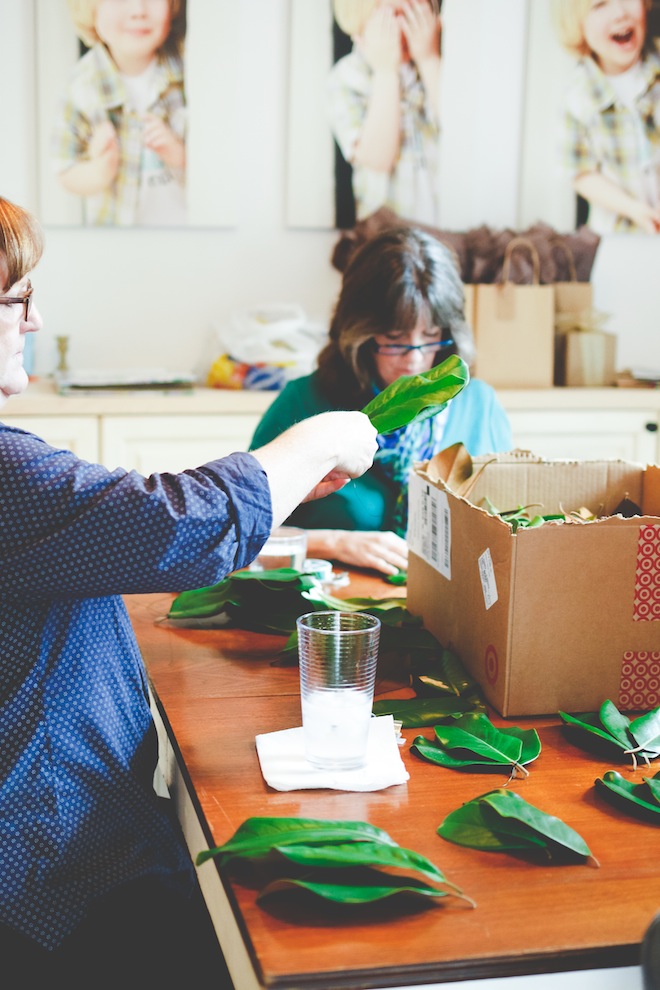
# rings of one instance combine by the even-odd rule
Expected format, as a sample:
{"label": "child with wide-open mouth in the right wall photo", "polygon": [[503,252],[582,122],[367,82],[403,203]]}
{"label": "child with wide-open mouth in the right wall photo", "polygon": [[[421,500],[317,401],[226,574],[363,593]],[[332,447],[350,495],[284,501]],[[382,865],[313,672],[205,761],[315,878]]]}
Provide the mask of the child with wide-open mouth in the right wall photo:
{"label": "child with wide-open mouth in the right wall photo", "polygon": [[660,232],[660,54],[651,0],[554,0],[579,59],[566,97],[565,158],[599,234]]}

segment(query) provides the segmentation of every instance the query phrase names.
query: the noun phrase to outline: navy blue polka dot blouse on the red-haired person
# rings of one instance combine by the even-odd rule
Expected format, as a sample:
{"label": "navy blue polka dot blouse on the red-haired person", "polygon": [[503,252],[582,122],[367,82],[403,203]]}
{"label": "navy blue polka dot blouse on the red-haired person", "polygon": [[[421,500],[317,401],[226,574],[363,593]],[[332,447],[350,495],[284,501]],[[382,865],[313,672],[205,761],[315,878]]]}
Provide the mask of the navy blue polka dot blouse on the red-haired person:
{"label": "navy blue polka dot blouse on the red-haired person", "polygon": [[118,884],[190,883],[120,596],[214,584],[271,521],[250,454],[144,478],[0,424],[0,923],[52,948]]}

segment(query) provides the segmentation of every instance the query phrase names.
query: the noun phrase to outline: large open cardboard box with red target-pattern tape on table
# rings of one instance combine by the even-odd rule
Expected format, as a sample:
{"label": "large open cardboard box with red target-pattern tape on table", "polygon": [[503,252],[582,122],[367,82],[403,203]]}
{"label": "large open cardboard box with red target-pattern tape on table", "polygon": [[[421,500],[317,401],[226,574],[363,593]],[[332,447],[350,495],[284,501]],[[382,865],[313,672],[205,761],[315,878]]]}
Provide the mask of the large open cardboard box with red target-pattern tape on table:
{"label": "large open cardboard box with red target-pattern tape on table", "polygon": [[[411,475],[409,610],[504,717],[659,705],[660,467],[513,451],[474,458],[473,479],[483,465],[469,498],[433,461]],[[484,496],[601,518],[514,531]],[[624,498],[643,516],[612,515]]]}

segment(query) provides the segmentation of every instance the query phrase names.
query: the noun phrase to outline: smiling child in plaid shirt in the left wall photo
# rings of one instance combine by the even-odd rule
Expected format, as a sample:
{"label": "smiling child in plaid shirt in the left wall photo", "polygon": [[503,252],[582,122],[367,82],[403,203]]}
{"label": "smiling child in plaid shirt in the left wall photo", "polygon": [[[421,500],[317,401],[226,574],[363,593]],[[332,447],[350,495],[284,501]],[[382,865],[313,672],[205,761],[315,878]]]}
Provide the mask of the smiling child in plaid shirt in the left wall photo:
{"label": "smiling child in plaid shirt in the left wall photo", "polygon": [[67,0],[88,50],[52,131],[58,180],[85,223],[186,224],[185,0]]}

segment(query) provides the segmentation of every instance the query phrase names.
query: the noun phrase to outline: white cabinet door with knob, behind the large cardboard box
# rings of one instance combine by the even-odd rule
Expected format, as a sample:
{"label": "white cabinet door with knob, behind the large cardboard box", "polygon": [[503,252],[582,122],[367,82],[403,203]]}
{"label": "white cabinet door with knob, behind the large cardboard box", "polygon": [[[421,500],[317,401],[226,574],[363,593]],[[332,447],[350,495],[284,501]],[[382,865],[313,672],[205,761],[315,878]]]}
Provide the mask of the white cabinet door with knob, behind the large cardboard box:
{"label": "white cabinet door with knob, behind the large cardboard box", "polygon": [[658,459],[657,420],[645,410],[515,410],[509,420],[514,446],[541,457],[642,464]]}

